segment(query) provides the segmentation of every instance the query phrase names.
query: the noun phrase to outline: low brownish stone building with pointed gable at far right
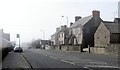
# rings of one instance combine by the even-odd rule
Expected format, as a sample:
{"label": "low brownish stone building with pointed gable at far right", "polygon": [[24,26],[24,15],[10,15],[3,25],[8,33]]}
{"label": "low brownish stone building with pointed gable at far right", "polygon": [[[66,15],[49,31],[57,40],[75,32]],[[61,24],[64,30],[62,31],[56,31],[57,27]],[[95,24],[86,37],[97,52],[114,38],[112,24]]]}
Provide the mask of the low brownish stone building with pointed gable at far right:
{"label": "low brownish stone building with pointed gable at far right", "polygon": [[115,22],[101,22],[94,35],[95,46],[107,46],[120,43],[120,24]]}

